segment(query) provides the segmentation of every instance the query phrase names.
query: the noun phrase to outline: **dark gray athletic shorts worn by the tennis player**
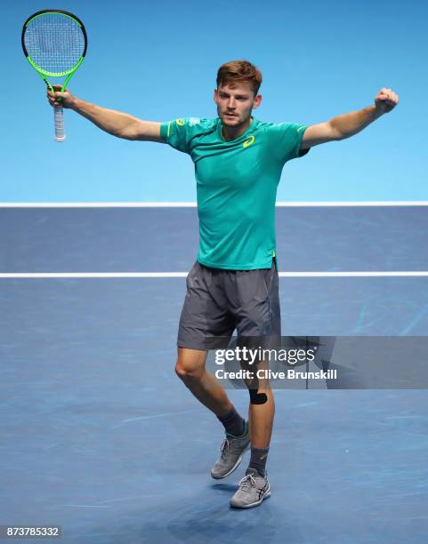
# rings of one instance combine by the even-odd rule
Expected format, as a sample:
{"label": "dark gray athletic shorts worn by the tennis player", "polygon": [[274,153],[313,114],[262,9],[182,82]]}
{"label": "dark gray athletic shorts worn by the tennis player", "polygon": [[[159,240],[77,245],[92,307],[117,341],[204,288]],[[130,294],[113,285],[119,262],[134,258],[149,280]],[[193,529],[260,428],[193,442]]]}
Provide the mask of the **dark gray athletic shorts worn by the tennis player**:
{"label": "dark gray athletic shorts worn by the tennis player", "polygon": [[[279,276],[271,268],[224,270],[198,260],[186,278],[177,345],[182,348],[223,347],[237,329],[238,337],[280,337]],[[214,338],[213,338],[214,337]],[[213,343],[218,338],[220,343]]]}

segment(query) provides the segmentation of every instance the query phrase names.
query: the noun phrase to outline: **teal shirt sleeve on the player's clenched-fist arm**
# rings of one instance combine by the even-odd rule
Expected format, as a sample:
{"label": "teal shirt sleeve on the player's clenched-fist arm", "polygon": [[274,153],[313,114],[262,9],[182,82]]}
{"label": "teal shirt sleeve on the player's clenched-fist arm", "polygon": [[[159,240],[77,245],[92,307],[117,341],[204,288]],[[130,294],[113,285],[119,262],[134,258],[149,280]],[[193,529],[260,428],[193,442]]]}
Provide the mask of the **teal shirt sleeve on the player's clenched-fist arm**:
{"label": "teal shirt sleeve on the player's clenched-fist arm", "polygon": [[284,164],[309,152],[309,148],[300,149],[303,133],[307,128],[306,125],[298,123],[271,124],[272,152]]}

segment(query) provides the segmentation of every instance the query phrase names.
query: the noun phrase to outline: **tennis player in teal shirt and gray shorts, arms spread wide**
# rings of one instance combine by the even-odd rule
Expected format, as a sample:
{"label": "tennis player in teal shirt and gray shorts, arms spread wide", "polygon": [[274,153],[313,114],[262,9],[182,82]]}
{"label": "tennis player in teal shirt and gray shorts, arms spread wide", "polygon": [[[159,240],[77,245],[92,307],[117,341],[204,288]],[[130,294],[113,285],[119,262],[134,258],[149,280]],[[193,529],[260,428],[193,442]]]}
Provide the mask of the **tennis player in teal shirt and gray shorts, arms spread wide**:
{"label": "tennis player in teal shirt and gray shorts, arms spread wide", "polygon": [[[225,437],[211,476],[233,472],[251,449],[245,476],[230,500],[252,508],[271,495],[266,460],[271,442],[274,399],[269,382],[249,388],[246,420],[222,384],[206,371],[206,339],[280,335],[279,281],[274,213],[284,164],[309,149],[343,140],[395,108],[399,97],[381,89],[375,104],[320,124],[264,123],[252,114],[262,95],[260,70],[246,60],[223,64],[217,73],[217,117],[142,121],[78,99],[55,87],[53,107],[62,98],[70,108],[103,131],[126,140],[167,143],[190,155],[195,164],[198,260],[187,276],[187,294],[178,331],[175,372],[198,401],[222,422]],[[254,383],[253,383],[254,386]]]}

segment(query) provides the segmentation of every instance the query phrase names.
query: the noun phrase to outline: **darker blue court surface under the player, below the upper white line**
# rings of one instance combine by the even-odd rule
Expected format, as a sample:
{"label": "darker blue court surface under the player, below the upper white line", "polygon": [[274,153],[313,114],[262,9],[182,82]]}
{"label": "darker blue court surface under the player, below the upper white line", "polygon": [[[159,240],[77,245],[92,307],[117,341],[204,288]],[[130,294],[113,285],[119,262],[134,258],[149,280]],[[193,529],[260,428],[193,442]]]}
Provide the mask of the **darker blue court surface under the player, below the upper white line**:
{"label": "darker blue court surface under the player, below the upper white line", "polygon": [[[326,272],[280,278],[283,334],[428,336],[427,226],[426,206],[278,208],[279,270]],[[271,498],[229,508],[248,454],[211,479],[222,427],[174,373],[185,274],[123,276],[186,273],[195,208],[0,208],[0,228],[0,524],[79,544],[426,542],[421,389],[276,391]]]}

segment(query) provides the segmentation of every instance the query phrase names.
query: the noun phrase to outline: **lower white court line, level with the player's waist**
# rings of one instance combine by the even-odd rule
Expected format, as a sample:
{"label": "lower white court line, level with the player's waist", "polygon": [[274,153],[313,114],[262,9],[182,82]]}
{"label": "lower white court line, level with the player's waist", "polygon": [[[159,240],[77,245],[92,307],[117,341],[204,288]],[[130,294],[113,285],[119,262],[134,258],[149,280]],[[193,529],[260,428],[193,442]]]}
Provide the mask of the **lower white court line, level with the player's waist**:
{"label": "lower white court line, level with the player's waist", "polygon": [[[187,272],[13,272],[2,273],[0,279],[52,279],[52,278],[162,278],[186,277]],[[402,272],[279,272],[280,277],[428,277],[428,271]]]}

